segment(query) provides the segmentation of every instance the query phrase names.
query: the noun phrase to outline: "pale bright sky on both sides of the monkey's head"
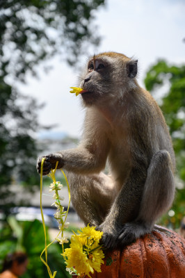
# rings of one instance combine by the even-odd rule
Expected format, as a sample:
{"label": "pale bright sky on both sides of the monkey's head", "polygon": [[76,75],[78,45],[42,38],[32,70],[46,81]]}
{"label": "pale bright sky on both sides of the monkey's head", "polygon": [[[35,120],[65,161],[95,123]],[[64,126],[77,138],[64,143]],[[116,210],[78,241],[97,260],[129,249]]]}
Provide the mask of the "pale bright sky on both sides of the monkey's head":
{"label": "pale bright sky on both sides of the monkey's head", "polygon": [[[144,86],[147,70],[159,58],[177,65],[185,63],[184,15],[184,0],[108,0],[106,7],[95,12],[97,32],[102,36],[96,53],[116,51],[137,58],[138,83]],[[87,57],[84,53],[82,64]],[[26,85],[18,83],[17,87],[24,95],[45,103],[38,114],[41,124],[80,138],[85,111],[80,96],[70,94],[70,87],[78,85],[79,72],[58,56],[49,60],[49,65],[53,69],[48,74],[40,65],[39,79],[27,74]]]}

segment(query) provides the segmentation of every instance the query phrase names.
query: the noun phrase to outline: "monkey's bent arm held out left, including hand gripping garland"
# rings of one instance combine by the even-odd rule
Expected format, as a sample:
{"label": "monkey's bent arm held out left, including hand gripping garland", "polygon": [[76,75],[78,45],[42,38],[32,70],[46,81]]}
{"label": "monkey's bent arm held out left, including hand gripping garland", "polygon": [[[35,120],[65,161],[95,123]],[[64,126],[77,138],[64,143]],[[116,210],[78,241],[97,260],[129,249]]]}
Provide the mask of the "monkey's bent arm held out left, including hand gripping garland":
{"label": "monkey's bent arm held out left, including hand gripping garland", "polygon": [[[58,161],[58,169],[62,168],[77,174],[93,174],[104,169],[108,156],[109,143],[102,129],[95,128],[95,119],[91,119],[83,134],[79,147],[68,149],[45,157],[43,174],[49,174]],[[42,157],[38,158],[38,172],[40,173]]]}

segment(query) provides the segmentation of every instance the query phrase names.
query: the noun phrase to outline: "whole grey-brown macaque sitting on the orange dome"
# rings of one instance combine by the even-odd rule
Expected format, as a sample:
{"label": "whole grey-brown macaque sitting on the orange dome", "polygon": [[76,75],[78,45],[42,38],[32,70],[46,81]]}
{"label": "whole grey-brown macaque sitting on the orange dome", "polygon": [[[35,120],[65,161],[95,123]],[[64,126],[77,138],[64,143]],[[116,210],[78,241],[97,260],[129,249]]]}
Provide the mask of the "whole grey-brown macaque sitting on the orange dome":
{"label": "whole grey-brown macaque sitting on the orange dome", "polygon": [[[137,60],[107,52],[81,75],[86,107],[79,147],[45,156],[43,173],[58,161],[67,172],[72,204],[85,224],[104,232],[107,248],[152,231],[175,195],[175,155],[164,117],[136,81]],[[110,173],[104,170],[106,161]],[[41,158],[38,159],[40,172]]]}

